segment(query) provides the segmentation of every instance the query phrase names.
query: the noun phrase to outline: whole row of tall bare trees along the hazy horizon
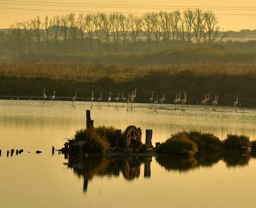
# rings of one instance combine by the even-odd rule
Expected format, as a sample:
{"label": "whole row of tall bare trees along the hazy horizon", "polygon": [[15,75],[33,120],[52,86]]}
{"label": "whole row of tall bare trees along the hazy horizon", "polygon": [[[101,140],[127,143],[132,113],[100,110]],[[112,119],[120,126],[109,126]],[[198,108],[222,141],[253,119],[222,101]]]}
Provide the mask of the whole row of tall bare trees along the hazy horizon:
{"label": "whole row of tall bare trees along the hazy horizon", "polygon": [[[77,52],[76,42],[81,42],[81,53],[85,36],[89,40],[89,51],[93,53],[93,40],[97,40],[98,53],[102,44],[105,44],[106,52],[110,52],[110,42],[114,44],[115,52],[118,46],[123,44],[123,52],[126,52],[127,41],[131,42],[132,53],[137,51],[136,41],[138,37],[144,36],[148,51],[152,41],[156,41],[156,50],[159,49],[159,41],[163,40],[165,49],[169,42],[173,46],[178,41],[180,46],[190,45],[194,41],[197,45],[204,42],[209,46],[216,41],[219,35],[220,26],[218,18],[212,11],[203,12],[201,9],[186,9],[184,12],[175,10],[173,12],[146,13],[141,17],[114,12],[106,13],[80,13],[75,17],[74,13],[65,16],[55,15],[53,18],[45,16],[41,21],[40,17],[25,22],[15,22],[10,26],[19,54],[22,54],[23,38],[26,37],[28,53],[31,53],[31,42],[37,41],[38,53],[41,52],[41,43],[44,41],[49,53],[50,41],[55,42],[57,53],[58,41],[64,41],[65,53],[67,53],[67,40],[72,40],[72,51]],[[226,33],[224,33],[224,36]],[[224,38],[224,36],[222,38]],[[219,41],[222,40],[219,39]],[[219,42],[218,41],[218,42]]]}

